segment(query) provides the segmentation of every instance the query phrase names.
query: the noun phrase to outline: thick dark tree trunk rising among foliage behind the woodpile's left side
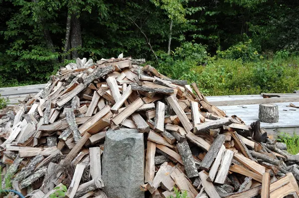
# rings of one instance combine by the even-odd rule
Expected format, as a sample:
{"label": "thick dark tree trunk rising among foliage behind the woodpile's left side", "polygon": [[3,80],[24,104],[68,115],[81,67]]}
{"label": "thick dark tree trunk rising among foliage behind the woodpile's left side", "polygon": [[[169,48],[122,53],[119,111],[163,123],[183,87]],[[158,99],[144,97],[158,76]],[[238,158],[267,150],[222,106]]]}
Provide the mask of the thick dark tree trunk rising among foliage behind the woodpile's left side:
{"label": "thick dark tree trunk rising among foliage behind the woodpile's left side", "polygon": [[72,20],[71,20],[71,48],[73,48],[72,59],[78,58],[79,55],[76,48],[79,46],[82,47],[80,20],[75,14],[72,14]]}

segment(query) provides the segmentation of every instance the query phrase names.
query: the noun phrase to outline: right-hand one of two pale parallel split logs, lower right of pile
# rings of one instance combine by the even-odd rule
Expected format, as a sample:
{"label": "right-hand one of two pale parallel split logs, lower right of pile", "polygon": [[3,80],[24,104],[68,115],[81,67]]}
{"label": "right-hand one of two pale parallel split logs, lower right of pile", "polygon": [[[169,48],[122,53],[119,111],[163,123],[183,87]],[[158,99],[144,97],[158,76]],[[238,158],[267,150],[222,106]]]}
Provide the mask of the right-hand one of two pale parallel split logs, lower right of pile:
{"label": "right-hand one of two pale parallel split logs, lower right of pile", "polygon": [[[212,146],[213,146],[213,144],[212,144]],[[217,177],[214,181],[215,183],[224,184],[227,174],[228,174],[230,164],[233,159],[233,156],[234,156],[234,152],[231,150],[226,150],[224,152],[222,161],[221,161],[221,165],[220,165],[219,171],[217,173]]]}

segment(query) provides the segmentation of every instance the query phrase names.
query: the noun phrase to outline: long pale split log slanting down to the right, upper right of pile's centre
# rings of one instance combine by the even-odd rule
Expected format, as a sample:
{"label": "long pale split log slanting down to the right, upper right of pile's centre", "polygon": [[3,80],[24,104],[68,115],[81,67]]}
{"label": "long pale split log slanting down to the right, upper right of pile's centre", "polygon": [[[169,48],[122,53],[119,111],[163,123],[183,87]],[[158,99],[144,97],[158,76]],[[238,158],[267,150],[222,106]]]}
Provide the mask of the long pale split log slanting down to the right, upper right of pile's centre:
{"label": "long pale split log slanting down to the right, upper right of pile's centre", "polygon": [[169,105],[171,106],[171,108],[173,109],[173,111],[175,112],[175,114],[177,115],[177,117],[179,118],[179,120],[182,123],[186,132],[191,131],[191,129],[193,128],[192,124],[190,123],[189,119],[187,118],[185,112],[180,108],[176,97],[174,95],[172,95],[172,96],[169,96],[168,98],[166,98],[166,100],[169,103]]}

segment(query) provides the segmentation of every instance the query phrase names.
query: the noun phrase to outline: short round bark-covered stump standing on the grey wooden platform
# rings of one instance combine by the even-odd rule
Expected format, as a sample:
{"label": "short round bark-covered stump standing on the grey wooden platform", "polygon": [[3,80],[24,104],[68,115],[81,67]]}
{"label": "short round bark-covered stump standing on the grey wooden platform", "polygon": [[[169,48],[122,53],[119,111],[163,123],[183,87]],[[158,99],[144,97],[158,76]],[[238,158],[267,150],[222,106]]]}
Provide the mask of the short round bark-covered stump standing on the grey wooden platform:
{"label": "short round bark-covered stump standing on the grey wooden platform", "polygon": [[277,123],[279,120],[278,106],[276,104],[260,104],[259,120],[264,123]]}

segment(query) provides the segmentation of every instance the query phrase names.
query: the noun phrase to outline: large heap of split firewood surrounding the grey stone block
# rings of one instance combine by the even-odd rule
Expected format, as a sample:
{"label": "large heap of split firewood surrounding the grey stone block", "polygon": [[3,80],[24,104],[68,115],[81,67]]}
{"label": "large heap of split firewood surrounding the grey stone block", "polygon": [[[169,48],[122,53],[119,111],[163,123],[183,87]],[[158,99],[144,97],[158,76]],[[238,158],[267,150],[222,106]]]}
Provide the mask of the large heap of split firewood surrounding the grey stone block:
{"label": "large heap of split firewood surrounding the grey stone block", "polygon": [[[86,61],[85,61],[86,62]],[[86,67],[84,67],[84,65]],[[2,186],[48,198],[105,197],[105,134],[137,129],[146,139],[146,197],[299,196],[299,155],[209,104],[195,83],[172,80],[131,58],[61,69],[44,90],[0,119]],[[29,197],[30,197],[29,196]]]}

